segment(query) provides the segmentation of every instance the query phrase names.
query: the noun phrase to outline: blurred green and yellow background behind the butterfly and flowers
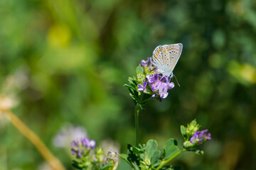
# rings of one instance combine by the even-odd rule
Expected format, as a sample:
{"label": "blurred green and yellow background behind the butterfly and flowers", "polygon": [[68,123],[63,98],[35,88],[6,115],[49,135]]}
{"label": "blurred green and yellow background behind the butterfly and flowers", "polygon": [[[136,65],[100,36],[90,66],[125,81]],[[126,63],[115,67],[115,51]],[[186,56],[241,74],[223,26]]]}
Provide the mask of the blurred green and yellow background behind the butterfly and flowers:
{"label": "blurred green and yellow background behind the butterfly and flowers", "polygon": [[[56,147],[56,135],[67,124],[83,127],[97,144],[126,152],[134,103],[123,84],[157,45],[177,42],[181,86],[140,113],[140,141],[163,147],[176,137],[181,145],[179,126],[196,118],[212,135],[205,155],[173,164],[256,169],[256,1],[1,0],[1,94],[14,96],[14,113],[72,169],[69,145]],[[3,117],[0,155],[0,169],[48,169]]]}

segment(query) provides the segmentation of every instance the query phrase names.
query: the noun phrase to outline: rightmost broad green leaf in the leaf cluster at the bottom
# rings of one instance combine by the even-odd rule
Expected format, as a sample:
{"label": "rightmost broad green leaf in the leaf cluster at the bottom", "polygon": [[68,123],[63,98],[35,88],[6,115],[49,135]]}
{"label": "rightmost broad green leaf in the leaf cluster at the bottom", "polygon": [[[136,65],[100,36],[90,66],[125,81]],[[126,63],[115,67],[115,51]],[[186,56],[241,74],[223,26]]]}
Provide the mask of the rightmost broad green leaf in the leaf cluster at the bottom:
{"label": "rightmost broad green leaf in the leaf cluster at the bottom", "polygon": [[169,159],[170,157],[173,157],[175,154],[179,152],[179,149],[177,147],[177,141],[174,139],[169,139],[166,142],[166,145],[164,146],[164,159]]}

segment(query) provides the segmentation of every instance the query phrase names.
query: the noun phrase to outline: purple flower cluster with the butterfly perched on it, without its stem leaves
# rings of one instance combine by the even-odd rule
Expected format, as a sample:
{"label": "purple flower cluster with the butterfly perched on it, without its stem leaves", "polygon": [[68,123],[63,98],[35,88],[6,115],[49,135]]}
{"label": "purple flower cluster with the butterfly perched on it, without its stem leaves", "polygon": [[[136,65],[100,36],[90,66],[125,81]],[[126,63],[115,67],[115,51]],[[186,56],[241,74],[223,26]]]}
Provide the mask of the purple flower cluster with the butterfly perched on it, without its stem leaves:
{"label": "purple flower cluster with the butterfly perched on it, without its stem leaves", "polygon": [[169,77],[161,76],[158,69],[153,66],[151,62],[151,57],[146,61],[142,60],[140,66],[144,69],[144,79],[139,79],[138,74],[141,75],[142,72],[137,72],[137,80],[139,82],[137,91],[143,91],[146,94],[150,94],[151,98],[158,98],[162,101],[163,98],[168,96],[168,90],[174,88],[174,82],[170,82]]}

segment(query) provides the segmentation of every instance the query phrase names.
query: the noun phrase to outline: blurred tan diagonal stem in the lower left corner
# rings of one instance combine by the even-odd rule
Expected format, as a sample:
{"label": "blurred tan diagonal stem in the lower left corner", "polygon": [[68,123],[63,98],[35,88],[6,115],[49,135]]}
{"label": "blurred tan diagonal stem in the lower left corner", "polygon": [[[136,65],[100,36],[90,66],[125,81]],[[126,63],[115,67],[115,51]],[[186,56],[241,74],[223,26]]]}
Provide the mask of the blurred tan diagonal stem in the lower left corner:
{"label": "blurred tan diagonal stem in the lower left corner", "polygon": [[5,113],[6,118],[14,125],[15,128],[21,134],[26,137],[35,147],[38,149],[38,152],[46,159],[46,162],[50,165],[50,167],[54,170],[65,170],[64,166],[60,163],[60,161],[53,156],[50,150],[43,144],[40,138],[30,130],[14,113],[11,111],[0,111],[1,113]]}

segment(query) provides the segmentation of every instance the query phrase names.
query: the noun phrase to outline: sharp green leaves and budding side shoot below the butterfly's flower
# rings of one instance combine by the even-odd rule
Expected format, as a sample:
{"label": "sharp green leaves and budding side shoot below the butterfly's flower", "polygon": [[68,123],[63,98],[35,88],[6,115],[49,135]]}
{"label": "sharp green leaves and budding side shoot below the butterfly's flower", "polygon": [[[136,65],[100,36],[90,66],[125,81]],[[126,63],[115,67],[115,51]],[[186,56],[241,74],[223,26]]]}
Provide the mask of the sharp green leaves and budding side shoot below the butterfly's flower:
{"label": "sharp green leaves and budding side shoot below the butterfly's flower", "polygon": [[[158,143],[156,140],[149,140],[146,145],[139,145],[134,147],[128,145],[127,154],[120,154],[120,157],[124,159],[134,170],[178,170],[182,169],[181,166],[167,166],[166,164],[171,162],[182,152],[193,152],[195,154],[203,154],[201,149],[198,149],[196,145],[192,144],[189,139],[191,138],[191,131],[199,130],[200,125],[196,123],[196,120],[191,121],[187,127],[181,125],[181,135],[185,142],[183,147],[178,147],[178,142],[171,138],[167,140],[166,145],[162,149],[162,152],[157,149]],[[189,142],[191,146],[185,145]],[[161,154],[162,153],[162,154]]]}

